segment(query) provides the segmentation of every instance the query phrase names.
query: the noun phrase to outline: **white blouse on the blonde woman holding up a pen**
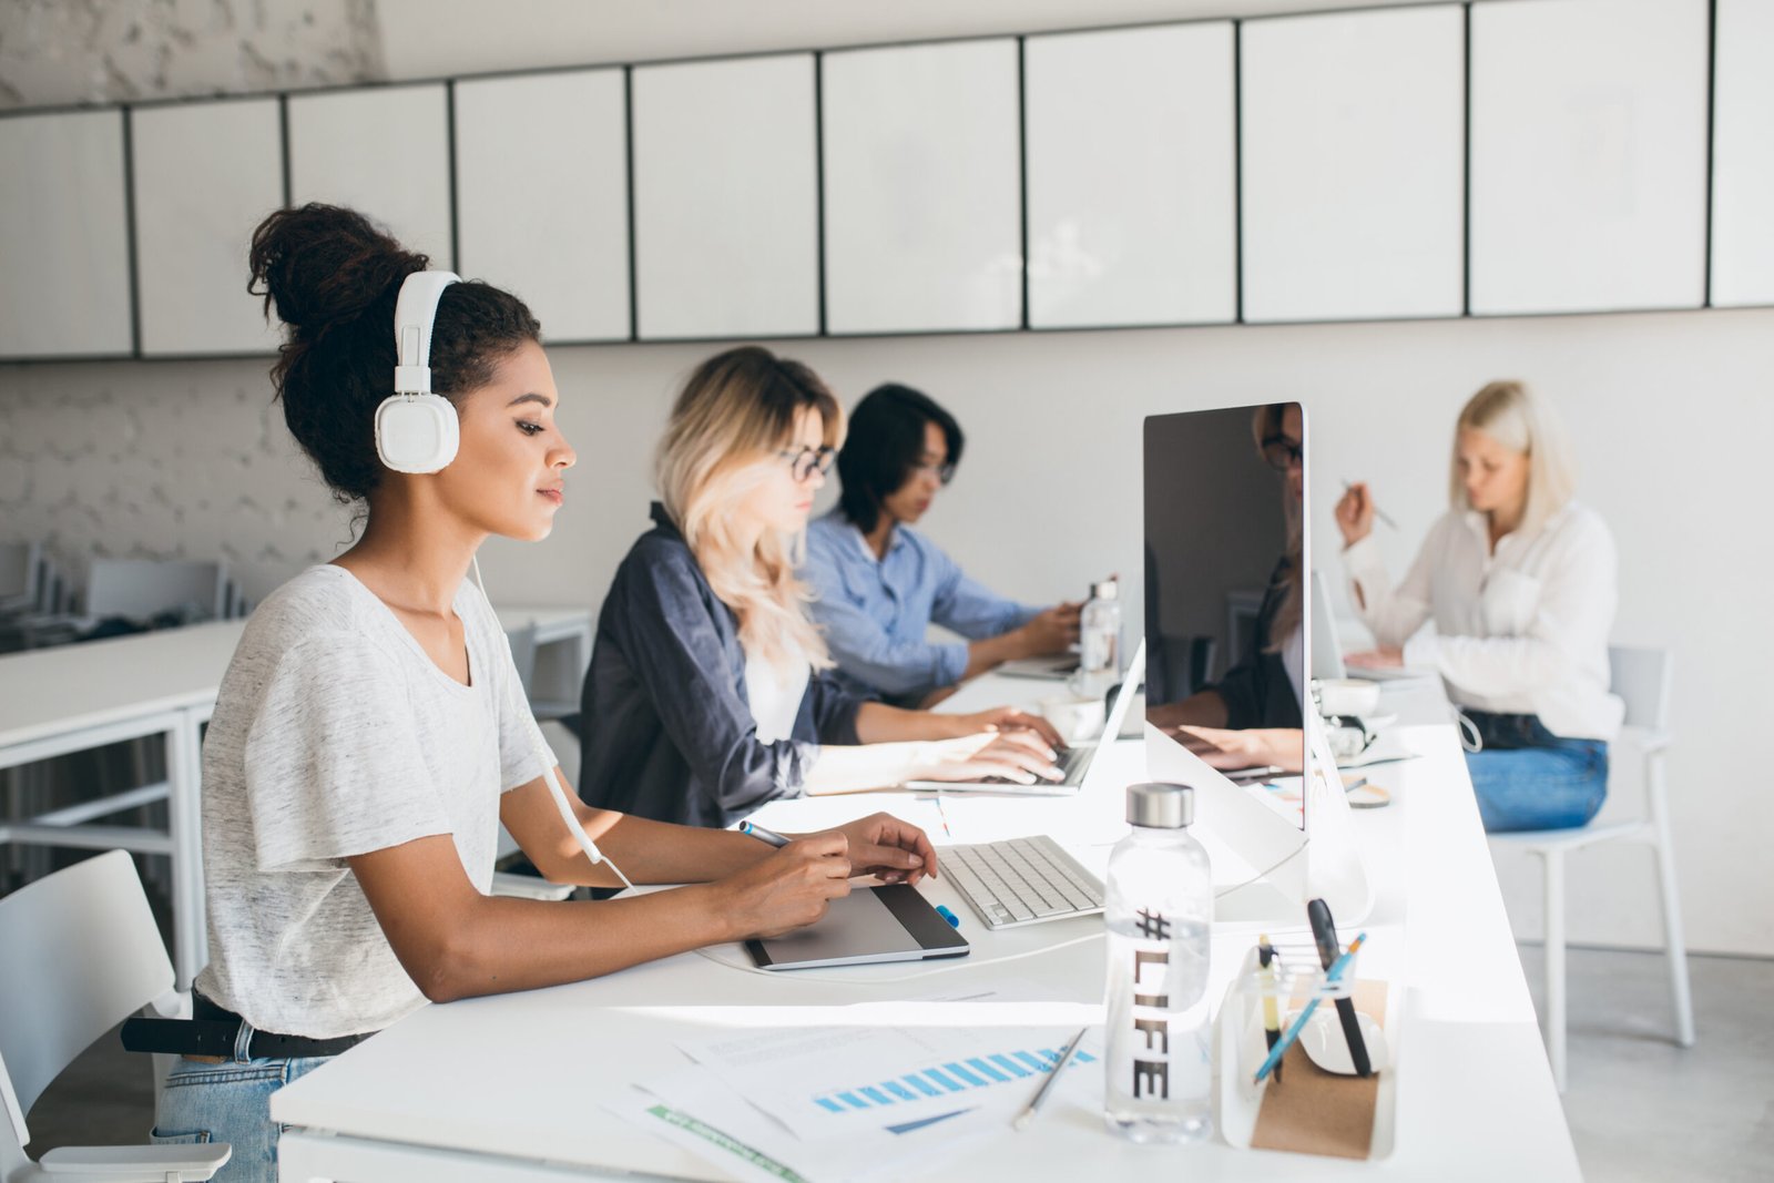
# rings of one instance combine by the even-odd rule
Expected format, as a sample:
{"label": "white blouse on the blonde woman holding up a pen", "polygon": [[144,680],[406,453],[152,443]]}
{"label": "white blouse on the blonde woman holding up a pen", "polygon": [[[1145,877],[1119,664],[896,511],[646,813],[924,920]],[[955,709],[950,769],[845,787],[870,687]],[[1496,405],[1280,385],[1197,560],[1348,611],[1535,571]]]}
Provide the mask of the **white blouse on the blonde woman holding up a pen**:
{"label": "white blouse on the blonde woman holding up a pen", "polygon": [[[1625,704],[1607,692],[1618,560],[1595,511],[1566,504],[1538,532],[1497,539],[1495,553],[1485,514],[1449,511],[1396,589],[1371,534],[1343,566],[1375,640],[1439,672],[1456,704],[1538,715],[1572,740],[1618,734]],[[1417,633],[1430,619],[1435,631]]]}

